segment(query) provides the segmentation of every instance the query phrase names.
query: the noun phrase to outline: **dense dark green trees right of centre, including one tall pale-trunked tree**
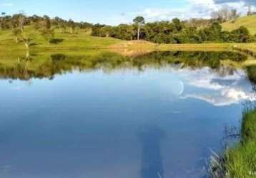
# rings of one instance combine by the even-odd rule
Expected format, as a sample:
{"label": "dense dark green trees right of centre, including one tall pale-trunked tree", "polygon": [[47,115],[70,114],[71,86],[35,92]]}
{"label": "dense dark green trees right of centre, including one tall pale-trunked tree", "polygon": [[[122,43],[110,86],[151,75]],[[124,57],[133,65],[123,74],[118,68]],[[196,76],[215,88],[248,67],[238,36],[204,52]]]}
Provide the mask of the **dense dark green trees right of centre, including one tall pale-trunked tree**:
{"label": "dense dark green trees right of centre, including one tall pale-trunked tree", "polygon": [[95,24],[92,26],[92,36],[113,37],[122,40],[142,39],[154,43],[249,43],[255,41],[256,38],[256,36],[250,35],[244,26],[234,31],[223,31],[220,19],[201,20],[201,22],[207,23],[205,27],[197,26],[197,19],[194,19],[193,22],[180,21],[176,18],[172,21],[145,23],[144,18],[138,16],[132,24],[120,24],[119,26]]}

